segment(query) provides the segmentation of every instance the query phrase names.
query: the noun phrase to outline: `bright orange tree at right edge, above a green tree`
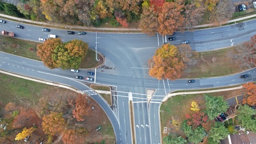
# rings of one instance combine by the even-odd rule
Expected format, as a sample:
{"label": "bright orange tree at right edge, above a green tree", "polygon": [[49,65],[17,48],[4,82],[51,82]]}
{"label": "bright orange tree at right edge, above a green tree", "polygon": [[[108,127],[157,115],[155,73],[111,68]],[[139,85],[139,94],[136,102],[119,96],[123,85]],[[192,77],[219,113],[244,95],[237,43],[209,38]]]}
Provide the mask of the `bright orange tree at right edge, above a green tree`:
{"label": "bright orange tree at right edge, above a green tree", "polygon": [[243,88],[246,89],[243,95],[243,104],[255,105],[256,104],[256,85],[253,82],[243,84]]}

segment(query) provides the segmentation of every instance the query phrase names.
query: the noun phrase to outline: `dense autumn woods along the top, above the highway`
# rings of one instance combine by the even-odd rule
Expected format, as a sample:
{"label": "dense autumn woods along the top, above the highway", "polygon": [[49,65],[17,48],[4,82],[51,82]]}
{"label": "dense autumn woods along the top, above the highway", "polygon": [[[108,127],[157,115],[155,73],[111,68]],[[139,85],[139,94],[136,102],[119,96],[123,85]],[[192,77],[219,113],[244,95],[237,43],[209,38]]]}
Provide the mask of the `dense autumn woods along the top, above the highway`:
{"label": "dense autumn woods along the top, above the highway", "polygon": [[17,7],[0,2],[0,10],[34,21],[84,26],[108,22],[127,27],[137,21],[144,33],[168,35],[193,29],[203,17],[219,25],[232,17],[232,5],[231,0],[22,0]]}

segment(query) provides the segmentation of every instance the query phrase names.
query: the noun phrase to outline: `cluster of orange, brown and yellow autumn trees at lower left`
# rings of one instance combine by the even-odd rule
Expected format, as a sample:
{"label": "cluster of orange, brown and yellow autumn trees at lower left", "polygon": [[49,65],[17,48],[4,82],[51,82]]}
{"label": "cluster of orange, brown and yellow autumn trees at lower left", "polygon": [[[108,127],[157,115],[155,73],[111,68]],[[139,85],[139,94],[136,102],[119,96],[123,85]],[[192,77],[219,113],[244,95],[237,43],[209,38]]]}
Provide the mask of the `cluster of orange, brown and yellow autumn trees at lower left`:
{"label": "cluster of orange, brown and yellow autumn trees at lower left", "polygon": [[84,143],[86,135],[95,131],[86,124],[93,111],[86,94],[61,91],[44,94],[33,109],[16,103],[0,103],[1,142],[23,141],[36,132],[42,139],[45,138],[42,134],[47,135],[44,143],[52,143],[59,136],[64,143]]}

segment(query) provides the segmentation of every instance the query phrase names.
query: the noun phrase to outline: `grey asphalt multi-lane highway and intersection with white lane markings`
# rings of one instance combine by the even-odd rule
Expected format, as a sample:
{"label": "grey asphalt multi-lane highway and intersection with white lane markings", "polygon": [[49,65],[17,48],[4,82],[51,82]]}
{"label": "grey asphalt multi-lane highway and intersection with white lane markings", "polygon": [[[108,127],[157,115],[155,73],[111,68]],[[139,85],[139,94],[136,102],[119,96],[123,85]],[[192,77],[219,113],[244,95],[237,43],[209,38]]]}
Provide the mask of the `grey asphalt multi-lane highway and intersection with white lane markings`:
{"label": "grey asphalt multi-lane highway and intersection with white lane markings", "polygon": [[[242,22],[235,25],[221,26],[194,32],[176,32],[175,41],[172,44],[180,44],[183,40],[189,40],[193,50],[208,51],[216,48],[234,46],[243,41],[248,41],[251,36],[256,35],[256,20]],[[16,37],[27,40],[38,41],[39,37],[48,38],[49,34],[57,35],[63,41],[81,39],[96,46],[96,33],[87,32],[86,35],[67,35],[65,30],[51,29],[50,32],[42,32],[40,26],[20,24],[24,29],[15,28],[17,22],[7,21],[1,24],[0,30],[13,31]],[[70,30],[70,29],[69,29]],[[116,105],[112,109],[106,106],[104,100],[99,96],[92,97],[107,112],[113,124],[117,143],[132,143],[131,125],[129,115],[129,100],[133,101],[134,129],[136,143],[161,143],[161,131],[159,120],[159,107],[161,100],[169,92],[176,89],[198,89],[213,88],[217,86],[243,84],[253,81],[254,70],[250,70],[250,77],[244,81],[238,74],[220,78],[196,79],[195,83],[188,84],[186,79],[169,81],[168,79],[158,81],[148,75],[148,59],[155,54],[156,48],[163,44],[165,37],[157,35],[148,37],[141,33],[97,33],[97,50],[106,56],[106,67],[109,69],[97,69],[96,83],[116,86]],[[168,37],[168,36],[167,36]],[[169,41],[167,41],[169,42]],[[48,81],[59,82],[73,86],[80,90],[88,90],[85,85],[74,79],[76,73],[70,70],[50,70],[43,66],[42,62],[24,59],[18,56],[0,53],[0,69],[27,75]],[[81,71],[85,75],[86,71]],[[148,103],[146,90],[156,90]]]}

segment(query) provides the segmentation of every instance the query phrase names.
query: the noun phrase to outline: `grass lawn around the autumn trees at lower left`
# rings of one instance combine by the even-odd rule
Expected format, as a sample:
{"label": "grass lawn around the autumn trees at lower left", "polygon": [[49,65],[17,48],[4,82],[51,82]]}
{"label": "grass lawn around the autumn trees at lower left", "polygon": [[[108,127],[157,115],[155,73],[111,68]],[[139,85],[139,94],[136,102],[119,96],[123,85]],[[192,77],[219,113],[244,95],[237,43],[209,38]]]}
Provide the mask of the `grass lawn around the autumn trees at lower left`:
{"label": "grass lawn around the autumn trees at lower left", "polygon": [[[54,93],[58,90],[69,91],[64,88],[57,88],[54,86],[41,84],[39,82],[29,81],[27,79],[17,78],[10,75],[0,73],[0,100],[3,104],[13,102],[16,104],[21,104],[27,106],[28,108],[34,108],[37,103],[39,103],[39,98],[43,97],[44,93]],[[70,91],[69,91],[70,92]],[[73,91],[71,91],[74,93]],[[99,104],[91,98],[91,104],[95,107],[95,112],[93,115],[86,116],[84,123],[91,126],[92,129],[96,127],[96,124],[100,124],[103,130],[100,132],[91,131],[86,139],[90,143],[95,143],[106,140],[106,143],[115,142],[114,129],[110,120],[107,118],[106,113],[101,109]],[[97,120],[95,123],[95,120]],[[82,122],[81,122],[82,123]],[[83,124],[84,124],[83,123]],[[99,140],[99,141],[97,141]]]}

